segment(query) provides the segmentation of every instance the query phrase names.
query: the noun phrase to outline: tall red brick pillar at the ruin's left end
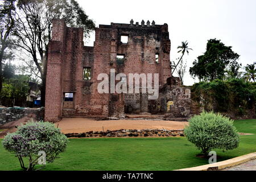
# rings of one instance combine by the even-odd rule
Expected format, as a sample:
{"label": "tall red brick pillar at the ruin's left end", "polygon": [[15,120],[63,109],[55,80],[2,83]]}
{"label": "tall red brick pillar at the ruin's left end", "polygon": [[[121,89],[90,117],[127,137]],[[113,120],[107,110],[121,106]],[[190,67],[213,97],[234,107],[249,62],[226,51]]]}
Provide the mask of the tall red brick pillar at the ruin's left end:
{"label": "tall red brick pillar at the ruin's left end", "polygon": [[53,22],[52,40],[49,42],[46,77],[46,121],[59,121],[63,102],[63,60],[66,26],[63,19]]}

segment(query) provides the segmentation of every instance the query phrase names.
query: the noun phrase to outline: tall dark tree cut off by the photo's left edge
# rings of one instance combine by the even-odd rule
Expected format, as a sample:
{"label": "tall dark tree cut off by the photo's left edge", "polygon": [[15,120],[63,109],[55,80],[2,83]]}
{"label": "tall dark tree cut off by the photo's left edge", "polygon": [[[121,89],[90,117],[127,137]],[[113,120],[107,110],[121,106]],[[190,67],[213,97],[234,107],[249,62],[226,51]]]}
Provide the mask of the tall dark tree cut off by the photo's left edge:
{"label": "tall dark tree cut off by the photo's left edge", "polygon": [[[2,63],[6,48],[9,47],[10,35],[14,28],[15,1],[5,0],[0,4],[0,93],[2,91],[3,73]],[[0,101],[1,102],[1,101]]]}

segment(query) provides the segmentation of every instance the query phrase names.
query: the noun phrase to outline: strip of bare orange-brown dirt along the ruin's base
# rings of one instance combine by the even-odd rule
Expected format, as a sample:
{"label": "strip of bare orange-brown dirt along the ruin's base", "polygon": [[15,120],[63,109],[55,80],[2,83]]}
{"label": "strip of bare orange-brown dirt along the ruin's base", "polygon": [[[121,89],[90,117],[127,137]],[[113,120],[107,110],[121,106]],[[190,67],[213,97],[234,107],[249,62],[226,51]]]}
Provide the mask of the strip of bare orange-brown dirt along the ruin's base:
{"label": "strip of bare orange-brown dirt along the ruin's base", "polygon": [[[58,126],[59,125],[59,126]],[[155,121],[155,120],[110,120],[96,121],[89,118],[63,118],[56,123],[61,131],[67,133],[84,133],[88,131],[104,131],[106,130],[142,130],[142,129],[166,129],[179,130],[184,129],[188,122],[177,121]]]}

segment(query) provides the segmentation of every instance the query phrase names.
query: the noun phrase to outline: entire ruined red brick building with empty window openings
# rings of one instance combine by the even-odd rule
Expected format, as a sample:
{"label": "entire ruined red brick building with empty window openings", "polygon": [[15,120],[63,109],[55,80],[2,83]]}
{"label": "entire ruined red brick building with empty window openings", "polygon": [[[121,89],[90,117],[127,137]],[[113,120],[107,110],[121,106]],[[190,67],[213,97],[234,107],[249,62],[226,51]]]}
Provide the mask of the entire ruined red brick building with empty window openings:
{"label": "entire ruined red brick building with empty window openings", "polygon": [[[124,117],[125,113],[166,113],[189,117],[190,90],[171,75],[168,25],[111,23],[96,28],[93,47],[84,46],[83,29],[53,22],[49,43],[46,121],[62,117]],[[100,73],[159,73],[157,100],[147,94],[100,94]]]}

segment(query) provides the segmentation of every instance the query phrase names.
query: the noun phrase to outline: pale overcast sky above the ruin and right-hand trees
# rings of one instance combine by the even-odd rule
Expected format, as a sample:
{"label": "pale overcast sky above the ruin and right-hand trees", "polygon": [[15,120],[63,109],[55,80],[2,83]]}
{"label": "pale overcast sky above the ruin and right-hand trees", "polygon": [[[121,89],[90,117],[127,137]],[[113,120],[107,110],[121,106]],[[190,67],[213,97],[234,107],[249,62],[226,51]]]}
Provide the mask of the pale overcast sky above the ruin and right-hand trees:
{"label": "pale overcast sky above the ruin and right-hand trees", "polygon": [[[188,40],[193,49],[185,56],[188,68],[184,84],[192,85],[189,67],[205,52],[207,40],[217,38],[232,46],[243,66],[256,61],[256,0],[77,0],[90,19],[99,24],[141,24],[142,19],[168,24],[171,39],[171,60],[179,57],[177,46]],[[86,43],[93,46],[94,34]]]}

